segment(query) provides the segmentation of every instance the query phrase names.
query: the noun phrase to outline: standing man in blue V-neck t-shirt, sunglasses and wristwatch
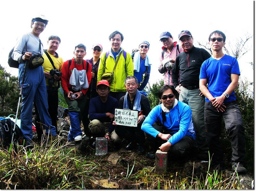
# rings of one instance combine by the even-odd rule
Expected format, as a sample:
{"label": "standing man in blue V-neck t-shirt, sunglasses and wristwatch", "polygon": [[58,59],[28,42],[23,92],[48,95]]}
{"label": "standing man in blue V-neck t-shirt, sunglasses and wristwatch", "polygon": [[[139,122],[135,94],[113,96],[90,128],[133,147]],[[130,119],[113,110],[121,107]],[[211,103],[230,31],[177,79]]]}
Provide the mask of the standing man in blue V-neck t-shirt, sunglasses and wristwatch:
{"label": "standing man in blue V-neck t-shirt, sunglasses and wristwatch", "polygon": [[[222,47],[226,36],[213,31],[209,36],[212,57],[203,62],[199,76],[200,90],[205,96],[205,131],[214,168],[224,167],[220,143],[221,117],[231,140],[232,170],[246,173],[244,168],[245,139],[242,115],[236,103],[235,89],[240,75],[236,58],[225,55]],[[208,84],[208,88],[207,85]]]}

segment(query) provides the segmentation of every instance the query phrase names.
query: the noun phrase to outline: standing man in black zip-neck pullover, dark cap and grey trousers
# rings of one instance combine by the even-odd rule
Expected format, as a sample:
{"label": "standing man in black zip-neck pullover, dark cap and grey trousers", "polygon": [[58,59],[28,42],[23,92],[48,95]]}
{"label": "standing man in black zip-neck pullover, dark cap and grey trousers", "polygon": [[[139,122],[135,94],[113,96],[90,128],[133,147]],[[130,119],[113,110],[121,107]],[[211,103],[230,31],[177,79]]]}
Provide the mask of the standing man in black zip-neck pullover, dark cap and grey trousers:
{"label": "standing man in black zip-neck pullover, dark cap and grey trousers", "polygon": [[[196,131],[198,147],[197,159],[209,160],[208,145],[204,129],[204,96],[199,90],[199,74],[202,63],[211,57],[203,48],[193,45],[193,37],[188,30],[179,34],[180,53],[172,68],[172,83],[180,93],[179,100],[188,104],[192,110],[192,120]],[[180,83],[179,83],[180,73]]]}

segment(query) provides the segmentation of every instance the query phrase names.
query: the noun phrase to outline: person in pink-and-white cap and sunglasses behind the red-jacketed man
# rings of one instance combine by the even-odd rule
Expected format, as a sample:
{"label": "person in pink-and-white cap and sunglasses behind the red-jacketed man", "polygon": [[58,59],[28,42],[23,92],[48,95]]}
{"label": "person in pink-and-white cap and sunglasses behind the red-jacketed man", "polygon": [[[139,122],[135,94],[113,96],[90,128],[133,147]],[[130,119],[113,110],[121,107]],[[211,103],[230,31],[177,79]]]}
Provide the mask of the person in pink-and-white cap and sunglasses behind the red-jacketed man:
{"label": "person in pink-and-white cap and sunglasses behind the red-jacketed man", "polygon": [[94,44],[92,46],[92,58],[87,59],[86,61],[89,62],[92,66],[92,81],[90,84],[90,87],[87,91],[87,102],[83,113],[83,126],[84,126],[84,133],[86,136],[91,137],[91,132],[88,128],[88,125],[90,123],[90,120],[88,118],[89,114],[89,103],[90,99],[98,96],[98,93],[96,91],[96,85],[97,85],[97,75],[98,75],[98,69],[100,65],[100,55],[102,53],[102,45],[101,44]]}

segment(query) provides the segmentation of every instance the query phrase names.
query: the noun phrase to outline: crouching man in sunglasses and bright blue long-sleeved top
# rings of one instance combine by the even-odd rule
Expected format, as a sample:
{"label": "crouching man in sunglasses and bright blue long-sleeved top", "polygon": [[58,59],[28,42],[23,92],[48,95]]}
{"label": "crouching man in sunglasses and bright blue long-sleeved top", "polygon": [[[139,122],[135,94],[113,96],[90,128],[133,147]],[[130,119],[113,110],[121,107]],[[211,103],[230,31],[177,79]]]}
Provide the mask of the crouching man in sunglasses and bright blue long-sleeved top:
{"label": "crouching man in sunglasses and bright blue long-sleeved top", "polygon": [[[156,150],[170,151],[172,158],[184,158],[195,144],[195,129],[190,107],[175,99],[173,86],[164,85],[158,92],[161,105],[154,107],[144,120],[141,129],[145,131],[150,146],[147,158],[155,158]],[[153,125],[155,122],[160,126]]]}

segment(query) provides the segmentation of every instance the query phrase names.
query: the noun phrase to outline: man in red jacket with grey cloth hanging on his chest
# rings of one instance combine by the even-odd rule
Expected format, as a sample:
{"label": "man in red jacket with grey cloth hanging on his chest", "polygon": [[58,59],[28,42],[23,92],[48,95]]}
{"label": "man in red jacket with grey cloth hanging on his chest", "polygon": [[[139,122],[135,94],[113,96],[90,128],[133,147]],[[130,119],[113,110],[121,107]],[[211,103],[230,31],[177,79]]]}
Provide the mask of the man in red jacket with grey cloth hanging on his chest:
{"label": "man in red jacket with grey cloth hanging on his chest", "polygon": [[83,44],[76,45],[74,55],[74,58],[63,63],[61,86],[68,104],[71,124],[68,141],[81,141],[80,121],[87,101],[86,92],[91,83],[92,66],[83,59],[86,55],[86,47]]}

